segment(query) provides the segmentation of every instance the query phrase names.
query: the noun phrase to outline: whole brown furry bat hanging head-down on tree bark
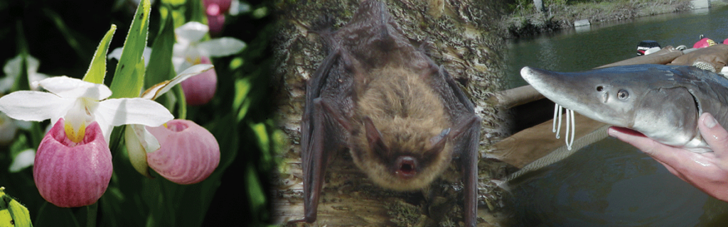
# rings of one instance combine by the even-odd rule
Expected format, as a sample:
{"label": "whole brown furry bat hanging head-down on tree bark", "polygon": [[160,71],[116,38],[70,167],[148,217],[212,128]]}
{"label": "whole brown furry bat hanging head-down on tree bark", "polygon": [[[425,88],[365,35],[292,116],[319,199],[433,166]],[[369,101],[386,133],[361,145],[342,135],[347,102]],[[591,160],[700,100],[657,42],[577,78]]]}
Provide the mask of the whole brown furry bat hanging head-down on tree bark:
{"label": "whole brown furry bat hanging head-down on tree bark", "polygon": [[405,38],[379,1],[363,1],[337,31],[314,31],[328,56],[306,81],[301,120],[304,218],[313,223],[330,157],[349,150],[376,185],[415,191],[458,157],[464,222],[478,210],[480,117],[445,68]]}

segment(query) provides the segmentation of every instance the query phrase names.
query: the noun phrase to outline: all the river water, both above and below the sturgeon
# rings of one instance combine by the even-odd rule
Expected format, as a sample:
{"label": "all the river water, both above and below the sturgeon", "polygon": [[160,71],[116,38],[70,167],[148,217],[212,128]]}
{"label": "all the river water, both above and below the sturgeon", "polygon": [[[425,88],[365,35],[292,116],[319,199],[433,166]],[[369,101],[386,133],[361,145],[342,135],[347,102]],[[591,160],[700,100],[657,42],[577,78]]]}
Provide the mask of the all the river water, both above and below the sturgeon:
{"label": "all the river water, both above and below the sturgeon", "polygon": [[[525,65],[582,71],[635,57],[641,40],[692,47],[700,34],[715,41],[728,38],[728,7],[511,41],[509,85],[526,85],[518,75]],[[516,226],[728,226],[727,202],[614,138],[582,148],[511,186]]]}

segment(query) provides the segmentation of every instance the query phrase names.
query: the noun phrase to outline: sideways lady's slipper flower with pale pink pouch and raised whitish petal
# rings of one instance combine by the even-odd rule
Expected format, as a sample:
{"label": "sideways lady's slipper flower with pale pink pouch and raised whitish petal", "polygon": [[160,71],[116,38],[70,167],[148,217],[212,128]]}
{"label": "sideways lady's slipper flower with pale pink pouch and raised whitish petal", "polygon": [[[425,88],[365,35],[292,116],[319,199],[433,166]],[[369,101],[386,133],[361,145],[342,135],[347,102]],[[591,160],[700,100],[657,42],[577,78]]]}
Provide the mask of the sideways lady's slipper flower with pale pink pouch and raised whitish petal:
{"label": "sideways lady's slipper flower with pale pink pouch and raised whitish petal", "polygon": [[[199,73],[212,71],[213,65],[192,65],[175,76],[147,89],[141,97],[154,100]],[[125,141],[132,166],[151,177],[149,167],[175,183],[191,184],[205,180],[220,162],[220,148],[213,135],[187,120],[173,120],[161,127],[132,124],[125,130]]]}

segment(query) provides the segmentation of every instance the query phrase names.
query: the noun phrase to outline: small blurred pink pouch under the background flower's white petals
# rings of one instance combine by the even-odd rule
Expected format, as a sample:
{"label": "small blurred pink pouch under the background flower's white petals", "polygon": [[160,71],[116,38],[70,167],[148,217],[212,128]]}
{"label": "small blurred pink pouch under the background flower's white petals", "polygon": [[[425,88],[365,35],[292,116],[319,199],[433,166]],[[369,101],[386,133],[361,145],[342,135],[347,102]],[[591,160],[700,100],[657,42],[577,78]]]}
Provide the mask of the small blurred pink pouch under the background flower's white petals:
{"label": "small blurred pink pouch under the background flower's white petals", "polygon": [[[210,58],[201,56],[200,64],[210,64]],[[188,105],[203,105],[215,96],[215,89],[218,86],[218,74],[215,70],[208,70],[192,76],[181,83],[185,100]]]}

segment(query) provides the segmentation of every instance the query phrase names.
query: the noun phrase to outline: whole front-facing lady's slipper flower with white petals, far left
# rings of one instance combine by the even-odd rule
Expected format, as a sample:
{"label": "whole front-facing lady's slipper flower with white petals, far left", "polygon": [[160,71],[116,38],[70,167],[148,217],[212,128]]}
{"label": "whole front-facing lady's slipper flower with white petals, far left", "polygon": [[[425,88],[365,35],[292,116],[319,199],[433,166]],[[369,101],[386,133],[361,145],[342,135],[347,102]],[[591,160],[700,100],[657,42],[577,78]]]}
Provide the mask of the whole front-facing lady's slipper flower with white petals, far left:
{"label": "whole front-facing lady's slipper flower with white petals, far left", "polygon": [[151,100],[106,99],[111,90],[103,84],[58,76],[39,85],[49,92],[12,92],[0,97],[0,111],[24,121],[51,119],[53,128],[33,164],[33,180],[41,196],[59,207],[93,204],[106,190],[112,168],[106,141],[114,126],[156,127],[173,119]]}

